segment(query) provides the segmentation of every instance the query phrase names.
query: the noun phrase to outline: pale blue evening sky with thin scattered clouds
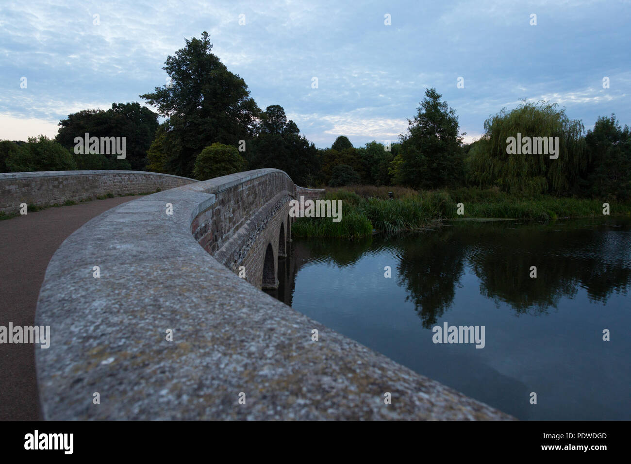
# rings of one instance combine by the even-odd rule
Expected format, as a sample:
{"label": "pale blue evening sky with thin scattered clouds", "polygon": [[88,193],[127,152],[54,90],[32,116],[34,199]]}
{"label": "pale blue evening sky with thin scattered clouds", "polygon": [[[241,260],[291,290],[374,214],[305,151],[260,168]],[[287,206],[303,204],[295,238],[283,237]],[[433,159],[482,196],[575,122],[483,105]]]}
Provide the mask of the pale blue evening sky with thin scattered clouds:
{"label": "pale blue evening sky with thin scattered clouds", "polygon": [[204,30],[259,107],[281,105],[320,148],[396,141],[431,87],[465,141],[524,98],[586,129],[611,113],[631,125],[630,27],[631,0],[1,0],[0,140],[146,104],[167,56]]}

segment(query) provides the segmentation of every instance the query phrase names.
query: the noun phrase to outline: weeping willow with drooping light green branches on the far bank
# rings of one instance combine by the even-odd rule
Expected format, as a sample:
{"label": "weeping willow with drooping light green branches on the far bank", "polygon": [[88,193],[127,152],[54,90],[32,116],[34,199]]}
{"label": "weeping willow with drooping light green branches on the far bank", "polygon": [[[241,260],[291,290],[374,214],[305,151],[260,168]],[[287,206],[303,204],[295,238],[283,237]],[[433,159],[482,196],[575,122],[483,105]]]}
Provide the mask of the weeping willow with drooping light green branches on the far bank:
{"label": "weeping willow with drooping light green branches on the far bank", "polygon": [[[557,109],[557,104],[523,102],[510,112],[502,109],[485,121],[484,129],[467,159],[469,181],[481,187],[498,186],[523,195],[567,194],[574,190],[587,167],[583,124],[570,120],[565,110]],[[546,151],[538,145],[536,150],[534,143],[524,150],[527,153],[521,147],[507,150],[511,137],[517,143],[548,138],[555,144],[558,158],[550,159],[551,146]]]}

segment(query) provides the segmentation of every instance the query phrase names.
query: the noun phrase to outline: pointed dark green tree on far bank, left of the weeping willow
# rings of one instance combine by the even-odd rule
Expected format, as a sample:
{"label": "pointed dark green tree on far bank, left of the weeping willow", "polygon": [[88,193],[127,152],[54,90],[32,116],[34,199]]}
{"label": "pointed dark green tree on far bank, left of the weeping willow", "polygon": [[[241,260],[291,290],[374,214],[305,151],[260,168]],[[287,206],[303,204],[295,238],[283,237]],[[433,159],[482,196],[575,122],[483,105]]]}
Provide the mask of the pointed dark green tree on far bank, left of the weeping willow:
{"label": "pointed dark green tree on far bank, left of the weeping willow", "polygon": [[462,177],[462,137],[456,110],[440,100],[435,89],[425,98],[408,132],[401,134],[401,152],[392,161],[394,181],[413,188],[434,189],[456,184]]}

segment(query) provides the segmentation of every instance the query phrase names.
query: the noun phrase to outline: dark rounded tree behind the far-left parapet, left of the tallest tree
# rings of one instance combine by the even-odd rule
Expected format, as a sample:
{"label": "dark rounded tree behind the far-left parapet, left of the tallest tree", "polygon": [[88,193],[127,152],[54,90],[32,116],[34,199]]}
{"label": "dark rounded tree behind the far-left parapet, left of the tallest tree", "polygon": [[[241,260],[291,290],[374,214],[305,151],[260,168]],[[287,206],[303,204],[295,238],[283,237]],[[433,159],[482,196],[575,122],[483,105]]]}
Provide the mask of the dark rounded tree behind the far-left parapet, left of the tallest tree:
{"label": "dark rounded tree behind the far-left parapet, left of the tallest tree", "polygon": [[[59,122],[55,140],[61,145],[74,149],[75,137],[88,133],[90,137],[125,137],[126,158],[118,160],[116,155],[108,157],[107,167],[111,169],[144,170],[146,153],[158,129],[158,114],[141,106],[138,102],[113,103],[107,111],[100,109],[81,110],[69,114]],[[88,154],[85,154],[86,158]],[[81,155],[77,155],[80,157]],[[80,160],[80,167],[90,165],[90,160]]]}

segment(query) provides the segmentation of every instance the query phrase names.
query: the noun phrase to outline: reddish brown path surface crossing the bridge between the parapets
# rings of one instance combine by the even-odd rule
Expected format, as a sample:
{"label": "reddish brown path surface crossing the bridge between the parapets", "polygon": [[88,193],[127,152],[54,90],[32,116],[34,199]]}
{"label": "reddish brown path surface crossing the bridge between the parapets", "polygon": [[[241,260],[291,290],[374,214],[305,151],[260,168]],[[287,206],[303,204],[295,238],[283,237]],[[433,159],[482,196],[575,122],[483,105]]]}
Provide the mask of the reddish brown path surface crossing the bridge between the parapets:
{"label": "reddish brown path surface crossing the bridge between the parapets", "polygon": [[[46,267],[81,225],[138,196],[48,208],[0,221],[0,326],[32,326]],[[0,420],[41,419],[32,344],[0,344]]]}

